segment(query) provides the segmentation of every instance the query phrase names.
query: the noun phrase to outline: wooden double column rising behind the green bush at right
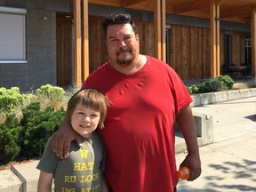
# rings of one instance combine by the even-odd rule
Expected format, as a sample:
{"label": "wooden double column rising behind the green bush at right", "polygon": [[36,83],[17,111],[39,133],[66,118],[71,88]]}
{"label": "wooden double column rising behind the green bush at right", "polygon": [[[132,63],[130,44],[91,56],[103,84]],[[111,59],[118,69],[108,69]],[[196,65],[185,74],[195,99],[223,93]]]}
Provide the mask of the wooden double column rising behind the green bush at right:
{"label": "wooden double column rising behind the green bush at right", "polygon": [[211,14],[211,77],[220,76],[220,5],[210,3]]}

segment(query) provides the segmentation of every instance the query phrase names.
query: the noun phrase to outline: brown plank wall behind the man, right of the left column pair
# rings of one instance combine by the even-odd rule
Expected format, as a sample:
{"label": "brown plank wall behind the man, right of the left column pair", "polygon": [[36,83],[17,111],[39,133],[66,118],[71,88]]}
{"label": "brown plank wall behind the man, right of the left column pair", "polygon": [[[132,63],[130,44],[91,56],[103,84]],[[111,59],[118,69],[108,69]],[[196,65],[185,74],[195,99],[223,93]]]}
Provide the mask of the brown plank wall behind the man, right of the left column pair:
{"label": "brown plank wall behind the man, right of the left column pair", "polygon": [[[89,63],[90,73],[108,61],[108,52],[101,29],[101,17],[89,17]],[[154,56],[154,23],[136,21],[140,36],[140,53]],[[204,79],[211,77],[210,29],[171,25],[170,66],[182,79]],[[244,63],[244,38],[250,33],[228,32],[232,34],[232,62],[237,66]],[[220,74],[224,65],[224,31],[220,30]]]}

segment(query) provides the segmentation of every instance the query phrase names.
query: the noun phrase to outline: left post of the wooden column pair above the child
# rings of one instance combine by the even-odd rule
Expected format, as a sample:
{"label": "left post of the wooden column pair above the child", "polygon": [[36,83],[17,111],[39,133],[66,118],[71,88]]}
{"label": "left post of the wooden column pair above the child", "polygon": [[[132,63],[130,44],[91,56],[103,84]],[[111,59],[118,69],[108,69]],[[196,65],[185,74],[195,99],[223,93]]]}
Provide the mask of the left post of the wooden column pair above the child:
{"label": "left post of the wooden column pair above the child", "polygon": [[81,0],[74,0],[74,31],[75,31],[75,85],[80,87],[81,77]]}

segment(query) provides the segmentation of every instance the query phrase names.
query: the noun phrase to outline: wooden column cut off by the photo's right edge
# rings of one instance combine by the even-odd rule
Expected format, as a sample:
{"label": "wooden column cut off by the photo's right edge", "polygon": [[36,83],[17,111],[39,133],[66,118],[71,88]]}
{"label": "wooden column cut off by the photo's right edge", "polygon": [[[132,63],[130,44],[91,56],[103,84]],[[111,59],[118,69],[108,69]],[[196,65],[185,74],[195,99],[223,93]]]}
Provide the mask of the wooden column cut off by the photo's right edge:
{"label": "wooden column cut off by the photo's right edge", "polygon": [[256,82],[256,8],[252,9],[252,77]]}

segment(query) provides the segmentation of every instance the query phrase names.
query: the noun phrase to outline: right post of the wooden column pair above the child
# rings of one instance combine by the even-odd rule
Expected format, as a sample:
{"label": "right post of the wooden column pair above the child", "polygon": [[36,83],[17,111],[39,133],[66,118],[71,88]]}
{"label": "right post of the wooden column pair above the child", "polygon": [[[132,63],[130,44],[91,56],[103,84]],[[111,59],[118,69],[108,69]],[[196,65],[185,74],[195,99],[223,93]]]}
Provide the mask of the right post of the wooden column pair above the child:
{"label": "right post of the wooden column pair above the child", "polygon": [[82,84],[89,76],[89,24],[88,24],[88,0],[83,0],[83,52],[82,52]]}

